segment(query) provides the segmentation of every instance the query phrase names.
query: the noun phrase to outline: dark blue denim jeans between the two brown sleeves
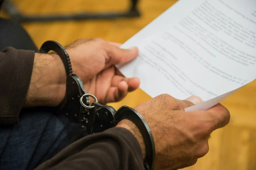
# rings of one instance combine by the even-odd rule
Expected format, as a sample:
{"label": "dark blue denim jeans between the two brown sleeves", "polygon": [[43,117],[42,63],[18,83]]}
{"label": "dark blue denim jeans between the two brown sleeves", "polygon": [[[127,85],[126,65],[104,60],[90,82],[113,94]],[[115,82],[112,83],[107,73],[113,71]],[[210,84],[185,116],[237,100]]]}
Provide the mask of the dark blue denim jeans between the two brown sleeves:
{"label": "dark blue denim jeans between the two brown sleeves", "polygon": [[53,108],[22,109],[17,125],[0,126],[0,169],[32,170],[85,135]]}

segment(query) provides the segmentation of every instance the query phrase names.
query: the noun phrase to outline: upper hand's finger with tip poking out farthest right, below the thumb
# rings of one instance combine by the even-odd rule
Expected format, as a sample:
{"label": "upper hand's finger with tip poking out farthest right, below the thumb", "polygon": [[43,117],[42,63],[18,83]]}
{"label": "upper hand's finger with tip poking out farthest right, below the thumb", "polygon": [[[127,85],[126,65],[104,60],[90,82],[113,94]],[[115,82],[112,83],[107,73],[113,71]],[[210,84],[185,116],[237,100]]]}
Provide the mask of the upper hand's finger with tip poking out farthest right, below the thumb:
{"label": "upper hand's finger with tip poking out farthest right, below the thumb", "polygon": [[119,82],[121,81],[126,82],[126,84],[128,85],[128,92],[136,90],[137,88],[139,88],[140,85],[140,79],[138,77],[126,78],[123,76],[115,75],[112,78],[111,86],[118,86]]}

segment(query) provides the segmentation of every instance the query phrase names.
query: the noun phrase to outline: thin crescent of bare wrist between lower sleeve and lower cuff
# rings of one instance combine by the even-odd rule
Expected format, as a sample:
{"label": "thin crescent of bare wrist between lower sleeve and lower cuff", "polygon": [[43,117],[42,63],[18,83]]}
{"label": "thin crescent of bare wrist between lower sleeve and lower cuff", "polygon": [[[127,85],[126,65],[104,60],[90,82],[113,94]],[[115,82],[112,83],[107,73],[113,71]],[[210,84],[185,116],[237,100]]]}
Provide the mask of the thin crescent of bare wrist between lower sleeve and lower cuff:
{"label": "thin crescent of bare wrist between lower sleeve and lower cuff", "polygon": [[139,130],[139,128],[137,128],[137,126],[130,120],[128,119],[123,119],[121,120],[116,127],[121,127],[121,128],[126,128],[128,129],[137,139],[138,143],[140,144],[140,148],[141,148],[141,152],[142,152],[142,156],[143,159],[146,156],[146,148],[145,148],[145,143],[142,137],[142,134]]}

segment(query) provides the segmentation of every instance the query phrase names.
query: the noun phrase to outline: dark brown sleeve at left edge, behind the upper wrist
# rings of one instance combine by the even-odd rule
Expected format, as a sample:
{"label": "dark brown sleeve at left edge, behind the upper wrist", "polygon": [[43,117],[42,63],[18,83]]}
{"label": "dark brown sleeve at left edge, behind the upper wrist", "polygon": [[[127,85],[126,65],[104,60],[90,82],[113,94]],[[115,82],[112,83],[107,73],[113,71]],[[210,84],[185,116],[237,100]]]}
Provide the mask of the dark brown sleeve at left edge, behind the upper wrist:
{"label": "dark brown sleeve at left edge, behind the upper wrist", "polygon": [[0,125],[19,122],[34,62],[34,51],[7,47],[0,52]]}

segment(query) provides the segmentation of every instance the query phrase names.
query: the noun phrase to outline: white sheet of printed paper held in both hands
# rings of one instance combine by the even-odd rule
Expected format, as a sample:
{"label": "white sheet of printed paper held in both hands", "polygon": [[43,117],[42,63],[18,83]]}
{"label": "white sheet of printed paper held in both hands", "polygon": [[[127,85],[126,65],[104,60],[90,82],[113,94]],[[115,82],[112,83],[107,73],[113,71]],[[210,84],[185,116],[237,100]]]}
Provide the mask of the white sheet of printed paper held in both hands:
{"label": "white sheet of printed paper held in both hands", "polygon": [[125,42],[139,55],[117,66],[151,97],[168,93],[206,110],[256,78],[256,1],[180,0]]}

